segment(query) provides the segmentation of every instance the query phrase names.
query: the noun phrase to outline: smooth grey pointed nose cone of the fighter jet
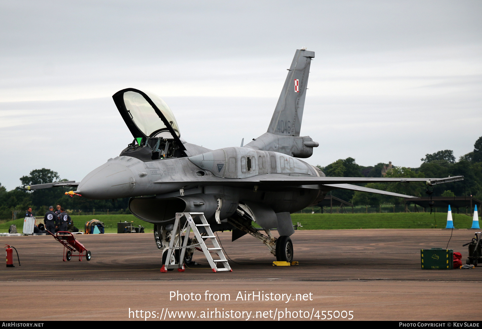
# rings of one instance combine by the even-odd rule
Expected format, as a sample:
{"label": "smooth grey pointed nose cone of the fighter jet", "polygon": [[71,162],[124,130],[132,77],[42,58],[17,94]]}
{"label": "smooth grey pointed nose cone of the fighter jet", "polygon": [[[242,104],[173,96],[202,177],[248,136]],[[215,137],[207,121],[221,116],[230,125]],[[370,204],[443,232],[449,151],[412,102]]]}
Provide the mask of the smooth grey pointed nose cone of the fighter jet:
{"label": "smooth grey pointed nose cone of the fighter jet", "polygon": [[123,164],[107,163],[89,173],[77,193],[89,199],[125,198],[134,191],[134,175]]}

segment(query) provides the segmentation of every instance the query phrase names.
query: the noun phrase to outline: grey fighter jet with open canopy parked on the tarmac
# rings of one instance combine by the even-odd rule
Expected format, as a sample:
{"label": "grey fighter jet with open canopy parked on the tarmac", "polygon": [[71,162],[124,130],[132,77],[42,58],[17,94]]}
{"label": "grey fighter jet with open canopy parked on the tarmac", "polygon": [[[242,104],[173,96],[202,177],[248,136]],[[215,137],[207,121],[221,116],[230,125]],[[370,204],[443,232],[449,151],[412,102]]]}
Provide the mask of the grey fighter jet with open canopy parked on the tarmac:
{"label": "grey fighter jet with open canopy parked on the tarmac", "polygon": [[[295,231],[290,214],[319,203],[330,190],[407,197],[351,184],[426,181],[434,185],[463,179],[325,177],[318,167],[299,160],[310,157],[319,146],[309,136],[300,136],[314,57],[313,51],[296,50],[268,131],[244,146],[209,150],[188,143],[160,97],[128,88],[112,97],[134,137],[132,143],[80,183],[27,189],[77,186],[74,192],[89,199],[130,197],[131,213],[154,223],[155,242],[164,250],[164,264],[177,212],[204,213],[213,231],[232,230],[233,241],[250,234],[263,241],[278,261],[291,262],[290,236]],[[273,228],[279,238],[273,237]]]}

